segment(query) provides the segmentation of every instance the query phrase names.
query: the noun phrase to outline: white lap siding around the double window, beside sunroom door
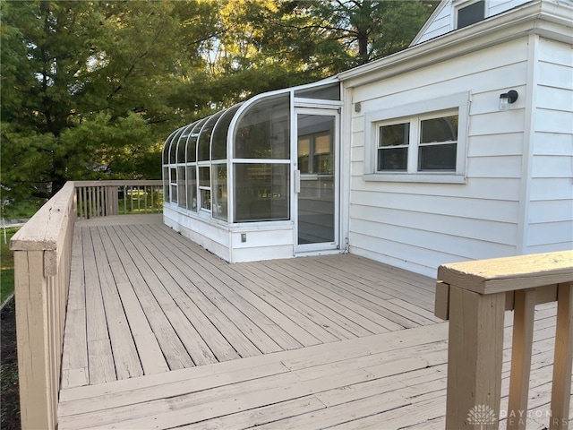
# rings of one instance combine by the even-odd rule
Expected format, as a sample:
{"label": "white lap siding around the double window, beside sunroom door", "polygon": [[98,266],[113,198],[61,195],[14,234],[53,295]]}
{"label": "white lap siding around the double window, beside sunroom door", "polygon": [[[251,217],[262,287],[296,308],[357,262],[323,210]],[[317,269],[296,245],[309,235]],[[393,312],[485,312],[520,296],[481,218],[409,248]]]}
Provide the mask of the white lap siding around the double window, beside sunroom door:
{"label": "white lap siding around the double window, beside sunroom door", "polygon": [[[428,276],[445,262],[516,254],[525,109],[498,104],[509,89],[525,94],[526,79],[520,39],[356,88],[350,251]],[[465,185],[363,180],[364,114],[464,91],[472,92]]]}

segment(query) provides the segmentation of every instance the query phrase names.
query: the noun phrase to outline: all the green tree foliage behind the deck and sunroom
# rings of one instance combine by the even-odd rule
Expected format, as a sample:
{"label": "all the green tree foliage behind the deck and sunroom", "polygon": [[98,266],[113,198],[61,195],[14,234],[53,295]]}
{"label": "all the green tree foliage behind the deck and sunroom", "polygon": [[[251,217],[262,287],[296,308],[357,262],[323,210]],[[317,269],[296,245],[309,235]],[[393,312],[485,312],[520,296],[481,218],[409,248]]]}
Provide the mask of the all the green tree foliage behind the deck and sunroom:
{"label": "all the green tree foliage behind the deck and sunroom", "polygon": [[3,198],[159,178],[175,128],[396,52],[435,4],[0,0]]}

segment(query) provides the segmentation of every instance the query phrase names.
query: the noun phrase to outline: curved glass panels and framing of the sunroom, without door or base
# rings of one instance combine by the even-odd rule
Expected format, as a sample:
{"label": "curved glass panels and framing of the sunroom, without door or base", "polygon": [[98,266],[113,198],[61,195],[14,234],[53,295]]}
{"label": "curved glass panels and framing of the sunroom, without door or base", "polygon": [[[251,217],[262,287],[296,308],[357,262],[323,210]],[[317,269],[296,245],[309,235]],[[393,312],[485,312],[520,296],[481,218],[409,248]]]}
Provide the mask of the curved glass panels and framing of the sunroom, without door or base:
{"label": "curved glass panels and framing of the sunroom, without door or base", "polygon": [[260,94],[176,129],[162,155],[165,202],[228,222],[289,219],[295,100],[340,99],[340,83],[329,79]]}

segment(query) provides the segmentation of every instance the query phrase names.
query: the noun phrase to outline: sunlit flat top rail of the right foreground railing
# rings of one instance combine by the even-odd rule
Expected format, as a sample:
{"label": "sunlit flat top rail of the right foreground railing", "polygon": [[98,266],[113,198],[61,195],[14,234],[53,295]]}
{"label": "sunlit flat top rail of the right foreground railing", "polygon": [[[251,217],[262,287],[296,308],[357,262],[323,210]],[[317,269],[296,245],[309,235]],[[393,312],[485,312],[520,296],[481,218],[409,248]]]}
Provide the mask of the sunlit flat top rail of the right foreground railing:
{"label": "sunlit flat top rail of the right foreground railing", "polygon": [[480,294],[573,281],[573,250],[441,265],[438,280]]}

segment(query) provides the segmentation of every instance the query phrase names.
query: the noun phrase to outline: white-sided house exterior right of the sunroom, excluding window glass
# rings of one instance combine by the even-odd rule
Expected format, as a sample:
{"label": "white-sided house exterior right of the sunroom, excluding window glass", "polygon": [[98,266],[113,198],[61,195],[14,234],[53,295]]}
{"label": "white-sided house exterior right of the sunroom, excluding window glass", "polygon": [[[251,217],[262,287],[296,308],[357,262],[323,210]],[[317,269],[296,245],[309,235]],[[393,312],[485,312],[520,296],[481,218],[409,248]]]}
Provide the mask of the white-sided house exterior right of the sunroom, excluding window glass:
{"label": "white-sided house exterior right of the sunroom, excluding window glass", "polygon": [[[573,4],[521,4],[454,31],[456,4],[440,4],[418,45],[339,75],[349,251],[428,275],[573,244]],[[518,99],[500,111],[508,90]],[[456,172],[376,172],[378,127],[444,109],[459,115]]]}

